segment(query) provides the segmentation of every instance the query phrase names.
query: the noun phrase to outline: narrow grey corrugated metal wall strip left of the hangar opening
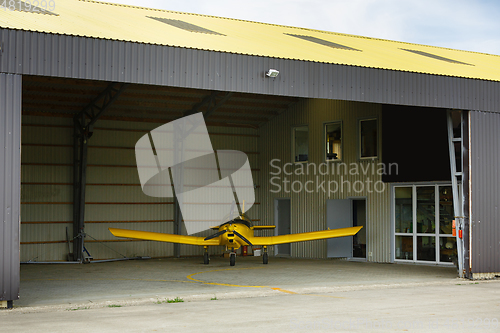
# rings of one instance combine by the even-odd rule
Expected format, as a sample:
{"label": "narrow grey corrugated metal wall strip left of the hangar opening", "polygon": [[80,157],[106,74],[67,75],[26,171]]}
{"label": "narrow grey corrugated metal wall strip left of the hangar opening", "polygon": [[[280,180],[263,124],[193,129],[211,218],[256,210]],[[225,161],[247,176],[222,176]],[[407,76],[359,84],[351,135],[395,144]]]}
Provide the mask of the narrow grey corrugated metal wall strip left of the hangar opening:
{"label": "narrow grey corrugated metal wall strip left of the hangar opening", "polygon": [[0,73],[0,300],[19,298],[20,75]]}

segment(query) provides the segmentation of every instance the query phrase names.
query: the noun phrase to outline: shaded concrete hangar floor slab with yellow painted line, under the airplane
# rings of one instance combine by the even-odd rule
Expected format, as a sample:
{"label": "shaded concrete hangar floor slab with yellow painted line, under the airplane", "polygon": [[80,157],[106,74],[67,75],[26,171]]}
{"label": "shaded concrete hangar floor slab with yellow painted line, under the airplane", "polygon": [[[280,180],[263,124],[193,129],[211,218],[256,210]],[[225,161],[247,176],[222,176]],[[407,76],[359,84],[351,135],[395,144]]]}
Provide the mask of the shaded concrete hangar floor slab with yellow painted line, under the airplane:
{"label": "shaded concrete hangar floor slab with yellow painted line, under the airplane", "polygon": [[375,264],[344,260],[238,257],[229,260],[165,258],[95,264],[21,266],[20,299],[26,311],[109,305],[324,294],[380,288],[456,284],[455,267]]}

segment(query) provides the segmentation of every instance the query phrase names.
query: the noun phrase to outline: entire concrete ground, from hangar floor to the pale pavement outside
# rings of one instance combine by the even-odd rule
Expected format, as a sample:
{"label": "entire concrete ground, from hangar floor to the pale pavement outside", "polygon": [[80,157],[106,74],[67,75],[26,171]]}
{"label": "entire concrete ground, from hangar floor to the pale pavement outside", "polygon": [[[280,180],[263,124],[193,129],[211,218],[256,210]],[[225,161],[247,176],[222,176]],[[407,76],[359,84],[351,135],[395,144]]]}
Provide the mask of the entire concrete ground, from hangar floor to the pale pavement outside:
{"label": "entire concrete ground, from hangar floor to the pale pavement outside", "polygon": [[499,314],[500,281],[462,280],[453,267],[187,258],[23,265],[0,329],[499,332]]}

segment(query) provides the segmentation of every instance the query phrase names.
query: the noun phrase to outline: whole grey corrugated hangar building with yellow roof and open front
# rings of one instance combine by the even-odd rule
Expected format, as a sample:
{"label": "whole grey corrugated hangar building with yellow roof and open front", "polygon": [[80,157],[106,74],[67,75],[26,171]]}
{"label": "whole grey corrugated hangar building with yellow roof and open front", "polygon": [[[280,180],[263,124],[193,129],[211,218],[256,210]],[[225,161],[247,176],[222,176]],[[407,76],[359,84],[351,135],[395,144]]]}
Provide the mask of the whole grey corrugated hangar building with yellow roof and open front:
{"label": "whole grey corrugated hangar building with yellow roof and open front", "polygon": [[0,25],[1,301],[20,262],[201,255],[107,231],[185,232],[134,145],[196,112],[249,156],[255,223],[364,226],[275,255],[500,274],[499,56],[98,1],[9,3]]}

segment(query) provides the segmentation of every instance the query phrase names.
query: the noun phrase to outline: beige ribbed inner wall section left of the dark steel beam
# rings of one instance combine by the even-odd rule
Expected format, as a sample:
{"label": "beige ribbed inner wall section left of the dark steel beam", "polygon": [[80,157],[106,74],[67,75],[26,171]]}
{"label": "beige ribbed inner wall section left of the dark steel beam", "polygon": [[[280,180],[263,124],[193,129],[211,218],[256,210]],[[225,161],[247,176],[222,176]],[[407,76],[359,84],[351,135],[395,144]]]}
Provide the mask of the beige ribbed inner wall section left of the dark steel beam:
{"label": "beige ribbed inner wall section left of the dark steel beam", "polygon": [[[64,184],[72,183],[73,159],[72,149],[60,145],[72,144],[71,124],[68,118],[23,117],[21,261],[67,258],[68,246],[62,242],[66,240],[66,228],[72,234],[73,194],[72,187]],[[55,241],[61,243],[49,243]]]}

